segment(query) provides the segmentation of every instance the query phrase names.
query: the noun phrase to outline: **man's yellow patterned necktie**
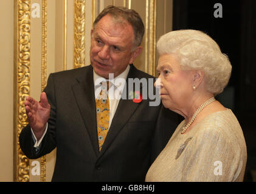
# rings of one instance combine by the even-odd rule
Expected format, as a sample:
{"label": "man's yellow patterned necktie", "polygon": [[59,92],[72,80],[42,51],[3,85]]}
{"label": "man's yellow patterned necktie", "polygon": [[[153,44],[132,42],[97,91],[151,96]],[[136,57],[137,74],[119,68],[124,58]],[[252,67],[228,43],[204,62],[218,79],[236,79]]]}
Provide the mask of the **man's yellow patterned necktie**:
{"label": "man's yellow patterned necktie", "polygon": [[102,83],[102,91],[100,96],[96,98],[96,113],[97,113],[97,131],[99,150],[102,149],[102,145],[108,134],[109,125],[109,99],[108,99],[109,82]]}

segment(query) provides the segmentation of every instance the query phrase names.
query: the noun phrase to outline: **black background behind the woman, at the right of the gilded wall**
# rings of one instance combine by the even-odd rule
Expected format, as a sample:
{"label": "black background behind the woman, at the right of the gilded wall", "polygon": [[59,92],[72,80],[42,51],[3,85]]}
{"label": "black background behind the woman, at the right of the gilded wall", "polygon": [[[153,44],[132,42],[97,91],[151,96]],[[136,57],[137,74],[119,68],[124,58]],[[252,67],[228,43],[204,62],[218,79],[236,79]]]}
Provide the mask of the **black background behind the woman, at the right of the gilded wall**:
{"label": "black background behind the woman, at the right of the gilded wall", "polygon": [[[223,6],[215,18],[214,5]],[[244,181],[253,181],[256,170],[256,1],[173,0],[173,30],[201,30],[229,56],[232,75],[216,98],[237,116],[247,146]],[[255,171],[256,172],[256,171]]]}

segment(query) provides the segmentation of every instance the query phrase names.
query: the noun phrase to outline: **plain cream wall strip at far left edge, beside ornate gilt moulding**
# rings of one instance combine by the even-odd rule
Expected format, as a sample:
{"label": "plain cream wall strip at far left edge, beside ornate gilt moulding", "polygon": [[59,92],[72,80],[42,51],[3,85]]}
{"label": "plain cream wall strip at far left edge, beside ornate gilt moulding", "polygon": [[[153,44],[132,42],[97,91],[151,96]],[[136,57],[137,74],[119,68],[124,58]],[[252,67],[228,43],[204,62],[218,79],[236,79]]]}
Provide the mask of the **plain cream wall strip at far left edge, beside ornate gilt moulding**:
{"label": "plain cream wall strip at far left edge, beside ornate gilt moulding", "polygon": [[0,8],[0,181],[13,181],[13,1]]}

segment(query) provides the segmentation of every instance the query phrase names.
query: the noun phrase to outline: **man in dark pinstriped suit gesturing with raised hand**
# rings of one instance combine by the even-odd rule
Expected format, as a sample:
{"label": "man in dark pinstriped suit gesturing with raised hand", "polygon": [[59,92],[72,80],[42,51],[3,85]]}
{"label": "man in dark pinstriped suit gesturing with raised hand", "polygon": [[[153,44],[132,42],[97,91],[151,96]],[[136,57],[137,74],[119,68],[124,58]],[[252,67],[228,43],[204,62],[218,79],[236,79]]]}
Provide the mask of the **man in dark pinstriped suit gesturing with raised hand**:
{"label": "man in dark pinstriped suit gesturing with raised hand", "polygon": [[[150,88],[148,80],[153,78],[132,65],[142,52],[143,35],[144,24],[134,10],[105,8],[91,31],[91,65],[50,74],[40,102],[27,98],[29,125],[22,130],[19,144],[32,159],[57,147],[52,181],[144,181],[177,122],[162,105],[150,106],[149,98],[133,101],[136,92]],[[131,92],[109,79],[109,73],[125,84],[129,78],[148,82]],[[108,99],[104,138],[97,129],[99,93],[95,91],[103,90],[99,79],[108,79],[109,90],[112,87],[117,96],[127,97]]]}

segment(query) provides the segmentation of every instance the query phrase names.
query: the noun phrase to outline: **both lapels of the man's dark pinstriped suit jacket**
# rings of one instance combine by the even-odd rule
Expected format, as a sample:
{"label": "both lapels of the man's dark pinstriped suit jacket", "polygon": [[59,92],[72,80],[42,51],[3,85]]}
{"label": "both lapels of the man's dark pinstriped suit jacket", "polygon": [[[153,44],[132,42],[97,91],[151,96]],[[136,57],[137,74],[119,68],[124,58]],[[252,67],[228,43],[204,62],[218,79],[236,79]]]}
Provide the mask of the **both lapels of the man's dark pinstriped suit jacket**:
{"label": "both lapels of the man's dark pinstriped suit jacket", "polygon": [[[131,65],[130,72],[126,78],[126,83],[128,83],[128,78],[140,79],[140,75],[137,72],[137,69]],[[133,102],[133,99],[128,99],[130,91],[128,91],[128,86],[126,86],[126,99],[120,99],[116,113],[112,119],[108,135],[106,136],[102,150],[99,153],[92,67],[86,67],[76,79],[77,84],[72,85],[75,101],[78,105],[78,109],[80,110],[83,122],[85,123],[89,138],[91,139],[95,155],[100,157],[114,141],[123,126],[129,121],[140,103],[135,103]],[[141,89],[142,85],[140,85],[140,93],[142,93]]]}

